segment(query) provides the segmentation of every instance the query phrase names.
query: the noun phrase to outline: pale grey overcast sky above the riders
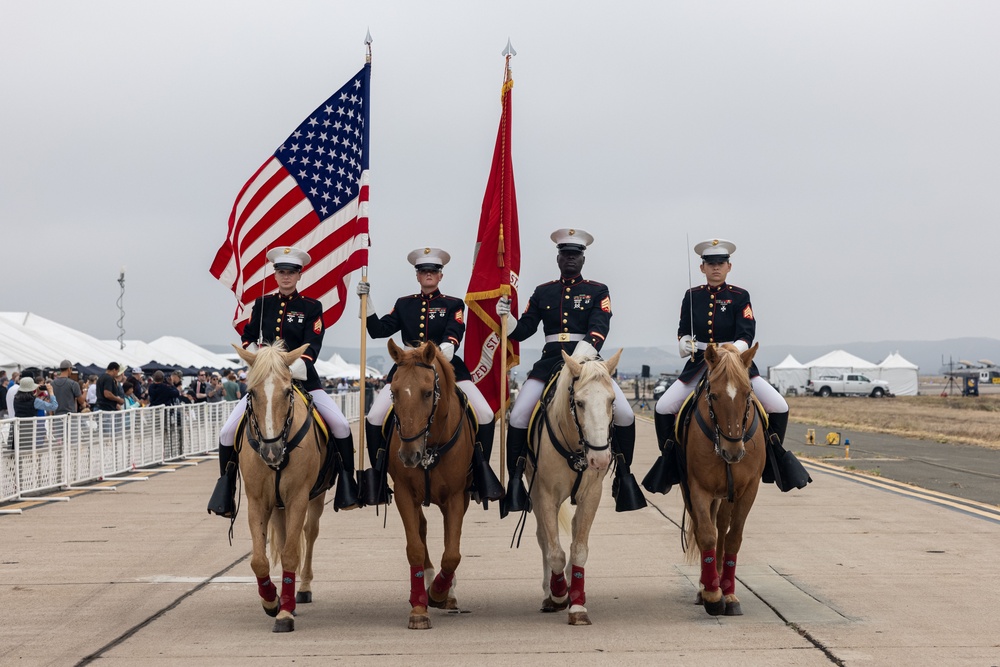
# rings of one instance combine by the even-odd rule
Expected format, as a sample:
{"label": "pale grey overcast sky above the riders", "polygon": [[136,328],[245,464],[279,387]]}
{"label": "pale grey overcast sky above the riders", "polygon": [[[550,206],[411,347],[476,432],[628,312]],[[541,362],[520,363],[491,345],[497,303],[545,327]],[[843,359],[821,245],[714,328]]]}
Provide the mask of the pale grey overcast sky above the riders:
{"label": "pale grey overcast sky above the riders", "polygon": [[[523,299],[580,227],[608,345],[673,346],[690,245],[721,237],[762,346],[1000,337],[1000,3],[34,0],[0,21],[0,310],[113,339],[124,265],[126,338],[235,342],[208,268],[236,195],[370,29],[380,315],[420,246],[465,294],[509,37]],[[352,300],[327,346],[358,344]]]}

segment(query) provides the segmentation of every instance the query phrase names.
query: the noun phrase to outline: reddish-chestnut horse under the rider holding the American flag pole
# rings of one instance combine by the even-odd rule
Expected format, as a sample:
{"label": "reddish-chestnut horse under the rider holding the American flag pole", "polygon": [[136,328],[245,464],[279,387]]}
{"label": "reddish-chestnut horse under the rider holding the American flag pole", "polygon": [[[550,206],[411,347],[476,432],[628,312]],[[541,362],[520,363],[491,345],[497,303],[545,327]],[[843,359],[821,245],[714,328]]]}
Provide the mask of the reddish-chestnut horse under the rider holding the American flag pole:
{"label": "reddish-chestnut horse under the rider holding the American flag pole", "polygon": [[[431,627],[428,606],[458,608],[455,570],[462,560],[459,543],[469,507],[476,429],[455,384],[455,372],[433,343],[404,350],[390,340],[388,348],[396,362],[391,384],[396,428],[389,439],[389,474],[406,530],[409,627],[426,630]],[[436,577],[427,551],[423,512],[431,503],[444,517],[444,554]]]}

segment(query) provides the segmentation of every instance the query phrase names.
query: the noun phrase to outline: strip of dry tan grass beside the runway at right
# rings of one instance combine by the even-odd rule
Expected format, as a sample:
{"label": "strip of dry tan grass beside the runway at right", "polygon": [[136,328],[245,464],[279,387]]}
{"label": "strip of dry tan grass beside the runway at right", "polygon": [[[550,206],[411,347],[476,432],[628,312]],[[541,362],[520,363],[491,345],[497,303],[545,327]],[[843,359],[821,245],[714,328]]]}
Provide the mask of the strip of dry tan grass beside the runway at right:
{"label": "strip of dry tan grass beside the runway at right", "polygon": [[979,397],[789,397],[789,419],[802,424],[1000,449],[1000,394]]}

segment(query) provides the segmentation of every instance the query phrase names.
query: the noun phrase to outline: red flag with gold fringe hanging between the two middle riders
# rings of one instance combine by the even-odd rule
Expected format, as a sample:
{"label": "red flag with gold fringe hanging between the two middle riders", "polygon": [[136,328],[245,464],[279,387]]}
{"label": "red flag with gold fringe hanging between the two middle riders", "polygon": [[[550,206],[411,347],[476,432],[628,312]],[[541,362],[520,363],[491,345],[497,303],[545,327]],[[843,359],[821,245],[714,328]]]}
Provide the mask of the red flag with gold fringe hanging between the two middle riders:
{"label": "red flag with gold fringe hanging between the two middle riders", "polygon": [[[496,302],[501,295],[509,295],[511,312],[517,309],[517,282],[521,270],[520,236],[517,230],[517,198],[514,196],[514,166],[510,156],[511,89],[510,57],[514,55],[507,43],[504,51],[506,67],[500,92],[500,129],[497,132],[493,166],[483,197],[483,210],[476,236],[476,252],[472,277],[465,303],[469,306],[469,321],[465,330],[463,358],[472,381],[499,415],[501,404],[507,396],[507,383],[503,366],[516,366],[519,361],[518,344],[501,342],[500,317]],[[506,333],[506,332],[504,332]],[[506,343],[506,365],[498,355]]]}

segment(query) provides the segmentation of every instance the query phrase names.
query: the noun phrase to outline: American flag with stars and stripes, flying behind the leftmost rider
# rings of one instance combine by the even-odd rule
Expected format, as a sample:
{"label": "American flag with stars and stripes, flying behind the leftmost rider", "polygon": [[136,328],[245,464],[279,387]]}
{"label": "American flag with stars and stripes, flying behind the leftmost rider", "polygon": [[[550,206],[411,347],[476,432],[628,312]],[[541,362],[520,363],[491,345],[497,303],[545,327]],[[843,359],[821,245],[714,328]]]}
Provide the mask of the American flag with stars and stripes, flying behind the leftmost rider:
{"label": "American flag with stars and stripes, flying behind the leftmost rider", "polygon": [[370,78],[366,64],[240,190],[210,269],[236,294],[238,332],[254,299],[277,288],[265,257],[274,247],[295,246],[312,257],[298,290],[322,302],[326,327],[344,312],[349,275],[368,263]]}

